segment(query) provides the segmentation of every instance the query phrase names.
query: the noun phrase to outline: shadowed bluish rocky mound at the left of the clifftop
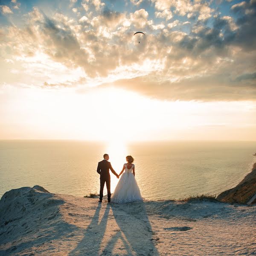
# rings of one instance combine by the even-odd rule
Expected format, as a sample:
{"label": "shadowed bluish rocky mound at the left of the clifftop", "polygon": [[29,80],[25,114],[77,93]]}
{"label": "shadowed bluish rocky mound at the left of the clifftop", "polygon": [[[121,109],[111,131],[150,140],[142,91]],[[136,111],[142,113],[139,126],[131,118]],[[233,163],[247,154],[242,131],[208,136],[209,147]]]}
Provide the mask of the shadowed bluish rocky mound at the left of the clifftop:
{"label": "shadowed bluish rocky mound at the left of the clifftop", "polygon": [[0,256],[36,255],[31,250],[44,243],[42,235],[64,233],[58,223],[61,218],[59,206],[62,204],[62,199],[41,186],[6,192],[0,200]]}

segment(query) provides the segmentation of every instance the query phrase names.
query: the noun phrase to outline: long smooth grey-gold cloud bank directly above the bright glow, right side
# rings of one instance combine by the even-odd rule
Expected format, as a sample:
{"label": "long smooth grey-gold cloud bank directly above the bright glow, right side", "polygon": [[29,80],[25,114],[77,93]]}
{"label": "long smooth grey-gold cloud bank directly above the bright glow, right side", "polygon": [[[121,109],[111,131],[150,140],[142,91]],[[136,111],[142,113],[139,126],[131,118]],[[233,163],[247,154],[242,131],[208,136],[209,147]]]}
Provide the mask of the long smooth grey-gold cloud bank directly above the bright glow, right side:
{"label": "long smooth grey-gold cloud bank directly above the bright glow, right side", "polygon": [[159,81],[157,76],[143,76],[122,79],[101,87],[119,87],[137,91],[150,98],[161,100],[234,101],[256,100],[256,87],[240,86],[227,76],[204,76],[181,79],[180,81]]}

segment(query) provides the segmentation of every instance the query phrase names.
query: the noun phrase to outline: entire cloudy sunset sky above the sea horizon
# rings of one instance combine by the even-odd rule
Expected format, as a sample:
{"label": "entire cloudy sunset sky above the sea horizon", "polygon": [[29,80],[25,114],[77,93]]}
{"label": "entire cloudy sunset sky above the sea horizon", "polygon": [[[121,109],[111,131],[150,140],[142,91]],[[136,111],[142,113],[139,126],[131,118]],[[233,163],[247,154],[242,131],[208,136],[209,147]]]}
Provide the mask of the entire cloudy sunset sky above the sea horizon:
{"label": "entire cloudy sunset sky above the sea horizon", "polygon": [[0,0],[0,139],[255,141],[255,27],[256,0]]}

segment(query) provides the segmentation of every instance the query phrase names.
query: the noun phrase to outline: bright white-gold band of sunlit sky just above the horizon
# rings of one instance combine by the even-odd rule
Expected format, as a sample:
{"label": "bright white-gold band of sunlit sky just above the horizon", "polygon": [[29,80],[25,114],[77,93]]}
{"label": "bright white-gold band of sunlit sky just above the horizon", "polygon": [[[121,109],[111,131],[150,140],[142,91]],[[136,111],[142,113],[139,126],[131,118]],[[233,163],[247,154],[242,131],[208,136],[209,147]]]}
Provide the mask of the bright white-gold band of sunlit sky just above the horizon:
{"label": "bright white-gold band of sunlit sky just above the horizon", "polygon": [[[160,101],[116,88],[80,93],[0,90],[1,139],[71,139],[125,143],[142,140],[251,140],[256,105],[250,101]],[[239,120],[239,122],[237,122]]]}

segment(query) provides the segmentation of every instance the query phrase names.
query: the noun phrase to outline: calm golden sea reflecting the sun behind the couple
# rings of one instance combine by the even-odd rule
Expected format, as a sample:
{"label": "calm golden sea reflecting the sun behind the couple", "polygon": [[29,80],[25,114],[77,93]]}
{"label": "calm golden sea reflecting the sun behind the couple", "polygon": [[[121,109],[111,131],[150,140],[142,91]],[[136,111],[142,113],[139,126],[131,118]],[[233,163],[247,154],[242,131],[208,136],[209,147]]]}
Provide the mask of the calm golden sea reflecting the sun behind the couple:
{"label": "calm golden sea reflecting the sun behind the couple", "polygon": [[[218,195],[238,184],[256,162],[256,142],[168,141],[99,143],[61,140],[0,141],[0,197],[10,189],[40,185],[75,196],[99,194],[97,164],[103,154],[117,173],[126,155],[145,199]],[[118,179],[111,173],[111,192]],[[106,194],[106,188],[104,194]]]}

